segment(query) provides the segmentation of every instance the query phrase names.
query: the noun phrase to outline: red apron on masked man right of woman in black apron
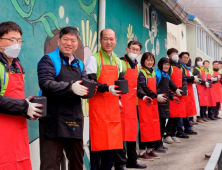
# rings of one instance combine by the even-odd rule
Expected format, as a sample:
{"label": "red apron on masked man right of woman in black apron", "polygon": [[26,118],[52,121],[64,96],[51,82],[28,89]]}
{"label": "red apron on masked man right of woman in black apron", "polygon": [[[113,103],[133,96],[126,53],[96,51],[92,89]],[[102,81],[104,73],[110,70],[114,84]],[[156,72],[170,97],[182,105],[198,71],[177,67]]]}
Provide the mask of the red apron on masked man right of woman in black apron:
{"label": "red apron on masked man right of woman in black apron", "polygon": [[[173,74],[171,75],[171,80],[176,84],[178,88],[182,87],[182,71],[178,67],[172,67]],[[170,118],[174,117],[186,117],[186,97],[178,97],[180,99],[180,104],[175,101],[170,100]]]}

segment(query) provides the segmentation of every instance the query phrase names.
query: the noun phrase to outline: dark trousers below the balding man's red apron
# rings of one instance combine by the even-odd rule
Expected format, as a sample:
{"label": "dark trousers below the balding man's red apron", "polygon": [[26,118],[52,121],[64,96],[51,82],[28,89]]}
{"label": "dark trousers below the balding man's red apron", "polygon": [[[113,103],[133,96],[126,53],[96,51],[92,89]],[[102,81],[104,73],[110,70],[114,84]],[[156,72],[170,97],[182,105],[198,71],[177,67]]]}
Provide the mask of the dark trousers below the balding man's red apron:
{"label": "dark trousers below the balding man's red apron", "polygon": [[90,151],[91,170],[111,170],[116,150]]}

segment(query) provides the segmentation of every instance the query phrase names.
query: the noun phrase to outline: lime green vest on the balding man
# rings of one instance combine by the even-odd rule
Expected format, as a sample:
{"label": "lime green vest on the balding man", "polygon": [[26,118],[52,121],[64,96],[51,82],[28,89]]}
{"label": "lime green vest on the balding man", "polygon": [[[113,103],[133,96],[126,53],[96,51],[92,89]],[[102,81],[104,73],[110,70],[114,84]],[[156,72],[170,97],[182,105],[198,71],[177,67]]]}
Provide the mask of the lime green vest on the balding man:
{"label": "lime green vest on the balding man", "polygon": [[[110,65],[110,56],[101,48],[100,49],[103,55],[103,64],[104,65]],[[101,69],[102,69],[102,61],[101,61],[101,57],[100,57],[100,52],[97,52],[95,54],[93,54],[93,56],[96,58],[97,61],[97,72],[96,72],[96,76],[97,76],[97,80],[99,79],[100,73],[101,73]],[[115,62],[116,61],[116,62]],[[112,63],[111,65],[118,67],[118,73],[120,73],[120,59],[117,57],[117,55],[113,52],[113,56],[112,56]]]}

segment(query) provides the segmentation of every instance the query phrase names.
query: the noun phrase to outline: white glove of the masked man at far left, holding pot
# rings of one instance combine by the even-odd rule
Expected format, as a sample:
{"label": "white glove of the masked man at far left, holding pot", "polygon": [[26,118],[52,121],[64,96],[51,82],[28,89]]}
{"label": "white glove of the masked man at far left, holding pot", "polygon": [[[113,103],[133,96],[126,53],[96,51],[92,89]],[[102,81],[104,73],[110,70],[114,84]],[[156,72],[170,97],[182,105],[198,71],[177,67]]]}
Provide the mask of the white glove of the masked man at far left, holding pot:
{"label": "white glove of the masked man at far left, holding pot", "polygon": [[30,117],[31,120],[37,120],[42,117],[42,115],[38,113],[43,113],[43,110],[40,110],[38,108],[43,107],[43,105],[39,103],[31,103],[30,101],[33,98],[34,96],[29,96],[28,98],[25,99],[29,104],[27,115]]}

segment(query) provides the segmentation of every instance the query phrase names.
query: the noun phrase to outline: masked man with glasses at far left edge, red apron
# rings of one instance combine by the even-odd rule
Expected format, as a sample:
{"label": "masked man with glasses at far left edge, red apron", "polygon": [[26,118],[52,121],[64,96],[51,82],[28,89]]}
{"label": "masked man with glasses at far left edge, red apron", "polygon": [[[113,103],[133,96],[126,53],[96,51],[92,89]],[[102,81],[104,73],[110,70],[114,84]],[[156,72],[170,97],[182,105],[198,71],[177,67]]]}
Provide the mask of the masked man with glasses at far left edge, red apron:
{"label": "masked man with glasses at far left edge, red apron", "polygon": [[26,118],[35,120],[42,113],[41,104],[29,102],[33,96],[25,100],[21,36],[16,23],[0,23],[0,169],[32,169]]}

